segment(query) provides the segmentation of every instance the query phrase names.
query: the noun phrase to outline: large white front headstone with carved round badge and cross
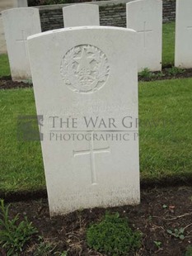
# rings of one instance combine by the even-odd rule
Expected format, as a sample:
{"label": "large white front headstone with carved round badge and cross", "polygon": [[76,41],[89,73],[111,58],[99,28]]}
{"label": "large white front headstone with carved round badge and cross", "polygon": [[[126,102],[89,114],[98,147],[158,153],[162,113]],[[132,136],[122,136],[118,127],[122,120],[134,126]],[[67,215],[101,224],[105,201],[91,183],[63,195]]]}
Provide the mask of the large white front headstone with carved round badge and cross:
{"label": "large white front headstone with carved round badge and cross", "polygon": [[135,31],[74,27],[28,45],[51,216],[139,203]]}

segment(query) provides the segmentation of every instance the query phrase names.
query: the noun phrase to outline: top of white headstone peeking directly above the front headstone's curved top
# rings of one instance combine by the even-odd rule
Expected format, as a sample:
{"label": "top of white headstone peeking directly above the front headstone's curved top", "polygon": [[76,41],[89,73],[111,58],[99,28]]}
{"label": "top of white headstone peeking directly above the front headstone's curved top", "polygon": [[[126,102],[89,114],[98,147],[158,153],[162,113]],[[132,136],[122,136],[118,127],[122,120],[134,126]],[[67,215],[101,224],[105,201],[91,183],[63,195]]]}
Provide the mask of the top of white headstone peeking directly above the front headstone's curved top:
{"label": "top of white headstone peeking directly above the front headstone's curved top", "polygon": [[99,26],[100,14],[96,4],[74,4],[63,7],[64,27]]}

